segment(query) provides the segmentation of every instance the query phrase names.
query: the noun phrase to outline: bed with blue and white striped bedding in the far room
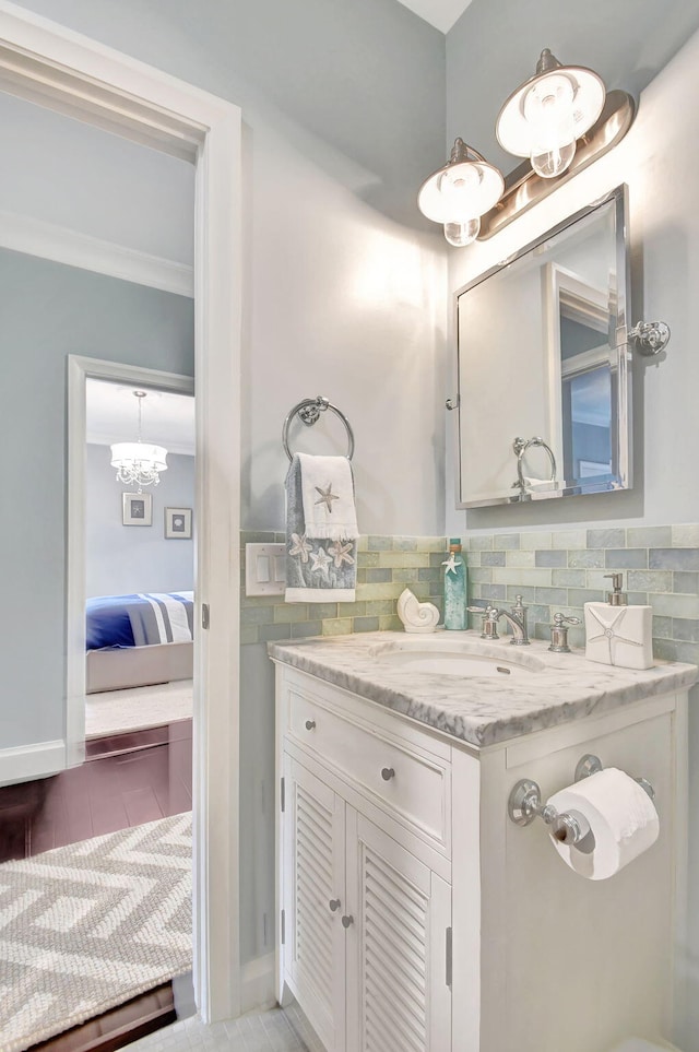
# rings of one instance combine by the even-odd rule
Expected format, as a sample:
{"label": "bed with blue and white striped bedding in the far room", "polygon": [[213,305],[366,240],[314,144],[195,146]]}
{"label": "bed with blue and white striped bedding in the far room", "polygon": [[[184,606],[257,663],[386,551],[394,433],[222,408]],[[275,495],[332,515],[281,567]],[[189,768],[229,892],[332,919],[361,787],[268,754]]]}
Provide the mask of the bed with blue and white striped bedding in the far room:
{"label": "bed with blue and white striped bedding in the far room", "polygon": [[191,679],[193,612],[188,591],[88,599],[86,693]]}

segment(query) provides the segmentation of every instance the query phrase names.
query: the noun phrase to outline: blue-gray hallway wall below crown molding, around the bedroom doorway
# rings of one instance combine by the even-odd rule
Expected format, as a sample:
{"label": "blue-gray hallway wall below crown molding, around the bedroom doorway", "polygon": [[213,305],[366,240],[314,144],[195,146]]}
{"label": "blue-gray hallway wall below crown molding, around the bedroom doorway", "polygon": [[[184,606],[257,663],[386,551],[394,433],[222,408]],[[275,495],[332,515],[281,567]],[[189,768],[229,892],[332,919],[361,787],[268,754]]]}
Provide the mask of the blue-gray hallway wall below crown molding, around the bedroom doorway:
{"label": "blue-gray hallway wall below crown molding, around the bedroom doorway", "polygon": [[10,748],[63,736],[66,356],[191,376],[193,305],[0,250],[0,748]]}

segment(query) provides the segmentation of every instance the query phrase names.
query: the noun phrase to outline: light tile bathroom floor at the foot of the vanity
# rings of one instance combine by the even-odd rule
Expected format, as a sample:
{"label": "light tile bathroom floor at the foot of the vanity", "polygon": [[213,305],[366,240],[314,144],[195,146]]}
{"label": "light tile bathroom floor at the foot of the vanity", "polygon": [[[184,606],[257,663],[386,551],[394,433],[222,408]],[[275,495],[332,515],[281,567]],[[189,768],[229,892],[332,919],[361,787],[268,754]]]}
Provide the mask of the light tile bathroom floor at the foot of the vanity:
{"label": "light tile bathroom floor at the foot of the vanity", "polygon": [[142,1038],[129,1052],[324,1052],[296,1005],[205,1027],[194,1016]]}

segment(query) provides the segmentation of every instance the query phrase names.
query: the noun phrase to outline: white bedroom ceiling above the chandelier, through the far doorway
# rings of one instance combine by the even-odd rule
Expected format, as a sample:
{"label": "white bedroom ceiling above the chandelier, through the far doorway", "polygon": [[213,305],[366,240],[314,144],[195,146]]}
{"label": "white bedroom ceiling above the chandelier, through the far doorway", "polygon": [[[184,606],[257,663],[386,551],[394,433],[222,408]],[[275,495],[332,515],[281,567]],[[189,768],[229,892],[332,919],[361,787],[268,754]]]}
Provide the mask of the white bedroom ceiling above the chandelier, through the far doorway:
{"label": "white bedroom ceiling above the chandelier, through the far doorway", "polygon": [[[134,385],[112,383],[88,377],[86,381],[86,437],[88,442],[110,446],[139,437],[139,407]],[[146,389],[142,411],[144,442],[165,446],[168,452],[194,454],[194,399],[187,394]]]}

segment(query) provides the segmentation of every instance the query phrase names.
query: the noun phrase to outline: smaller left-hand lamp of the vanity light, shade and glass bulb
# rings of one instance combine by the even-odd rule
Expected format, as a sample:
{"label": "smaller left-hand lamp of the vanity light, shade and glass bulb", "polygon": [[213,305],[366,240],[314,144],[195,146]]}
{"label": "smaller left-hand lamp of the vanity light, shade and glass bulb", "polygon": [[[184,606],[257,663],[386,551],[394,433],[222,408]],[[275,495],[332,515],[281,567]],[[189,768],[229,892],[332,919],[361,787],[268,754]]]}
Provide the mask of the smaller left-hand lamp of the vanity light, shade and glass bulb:
{"label": "smaller left-hand lamp of the vanity light, shade and glass bulb", "polygon": [[463,248],[476,239],[481,216],[502,196],[505,179],[463,139],[457,139],[451,157],[425,180],[417,205],[428,220],[442,223],[450,245]]}

